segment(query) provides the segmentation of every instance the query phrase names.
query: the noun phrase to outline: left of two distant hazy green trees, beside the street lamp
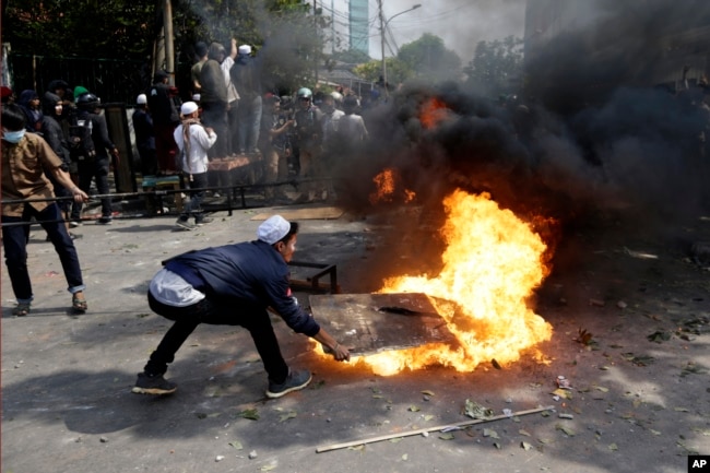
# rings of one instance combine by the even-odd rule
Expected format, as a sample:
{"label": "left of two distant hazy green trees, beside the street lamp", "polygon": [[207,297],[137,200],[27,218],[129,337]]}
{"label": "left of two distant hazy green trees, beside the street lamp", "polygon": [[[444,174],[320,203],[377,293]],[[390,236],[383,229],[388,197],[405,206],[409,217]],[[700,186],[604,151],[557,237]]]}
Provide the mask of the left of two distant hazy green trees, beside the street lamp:
{"label": "left of two distant hazy green trees, beside the street lamp", "polygon": [[443,39],[430,33],[402,46],[397,58],[412,71],[413,78],[425,82],[460,79],[461,58],[446,48]]}

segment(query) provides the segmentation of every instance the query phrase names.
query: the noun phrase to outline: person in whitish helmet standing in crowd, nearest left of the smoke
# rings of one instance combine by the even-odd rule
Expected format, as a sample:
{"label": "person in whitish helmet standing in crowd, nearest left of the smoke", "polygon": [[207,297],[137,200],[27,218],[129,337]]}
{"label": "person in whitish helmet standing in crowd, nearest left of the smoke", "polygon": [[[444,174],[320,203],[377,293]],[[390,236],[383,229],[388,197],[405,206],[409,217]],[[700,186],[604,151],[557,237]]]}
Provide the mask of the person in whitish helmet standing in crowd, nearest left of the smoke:
{"label": "person in whitish helmet standing in crowd, nearest left of the smoke", "polygon": [[[321,143],[320,123],[323,114],[313,105],[313,93],[310,88],[299,88],[296,97],[298,104],[296,105],[295,120],[300,177],[313,177],[320,174],[318,151]],[[304,198],[312,200],[312,186],[305,186],[303,191]]]}

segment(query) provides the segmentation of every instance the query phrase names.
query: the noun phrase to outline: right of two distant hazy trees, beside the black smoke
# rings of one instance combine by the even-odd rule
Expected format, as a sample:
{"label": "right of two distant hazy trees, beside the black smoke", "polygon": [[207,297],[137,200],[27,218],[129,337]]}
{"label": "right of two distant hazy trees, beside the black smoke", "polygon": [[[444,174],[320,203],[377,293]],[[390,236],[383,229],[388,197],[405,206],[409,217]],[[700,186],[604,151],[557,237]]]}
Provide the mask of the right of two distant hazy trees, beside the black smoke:
{"label": "right of two distant hazy trees, beside the black smoke", "polygon": [[466,85],[483,94],[498,96],[519,88],[522,78],[522,39],[513,36],[493,42],[480,42],[476,51],[463,68]]}

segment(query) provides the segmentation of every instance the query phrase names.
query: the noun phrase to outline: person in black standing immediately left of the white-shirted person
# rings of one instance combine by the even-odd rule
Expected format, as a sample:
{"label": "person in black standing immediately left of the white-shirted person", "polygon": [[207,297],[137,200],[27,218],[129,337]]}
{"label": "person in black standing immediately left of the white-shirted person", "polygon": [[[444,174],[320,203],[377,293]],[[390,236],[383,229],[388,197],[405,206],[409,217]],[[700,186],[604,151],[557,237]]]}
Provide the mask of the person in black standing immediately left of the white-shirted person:
{"label": "person in black standing immediately left of the white-shirted person", "polygon": [[173,139],[173,132],[180,122],[180,114],[170,96],[169,79],[170,74],[166,71],[157,71],[153,78],[153,85],[145,94],[147,108],[153,118],[158,174],[163,175],[174,174],[177,170],[175,166],[177,144]]}

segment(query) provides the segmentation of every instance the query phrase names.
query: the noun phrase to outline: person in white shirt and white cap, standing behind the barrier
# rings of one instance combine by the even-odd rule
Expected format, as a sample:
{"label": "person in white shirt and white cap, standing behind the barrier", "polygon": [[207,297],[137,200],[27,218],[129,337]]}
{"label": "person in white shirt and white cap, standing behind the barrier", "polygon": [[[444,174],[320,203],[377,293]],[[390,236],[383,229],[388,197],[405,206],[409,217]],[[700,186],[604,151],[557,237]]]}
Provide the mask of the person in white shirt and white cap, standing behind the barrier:
{"label": "person in white shirt and white cap, standing behind the barrier", "polygon": [[[182,104],[180,115],[182,121],[173,135],[178,145],[178,170],[187,176],[188,188],[197,190],[189,192],[190,199],[182,205],[182,213],[175,225],[181,229],[194,229],[212,222],[202,213],[201,204],[204,198],[202,189],[209,186],[208,150],[217,141],[217,135],[212,128],[202,126],[194,102]],[[190,223],[190,216],[194,216],[194,225]]]}

